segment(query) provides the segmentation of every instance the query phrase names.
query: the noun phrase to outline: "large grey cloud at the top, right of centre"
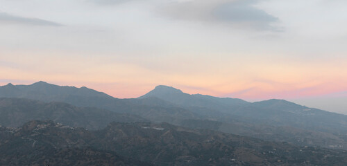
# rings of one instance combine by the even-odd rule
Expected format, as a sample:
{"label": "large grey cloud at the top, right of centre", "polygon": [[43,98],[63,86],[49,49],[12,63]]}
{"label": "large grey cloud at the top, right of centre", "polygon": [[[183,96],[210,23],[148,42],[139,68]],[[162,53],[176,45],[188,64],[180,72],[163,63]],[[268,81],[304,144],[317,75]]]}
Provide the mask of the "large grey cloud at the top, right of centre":
{"label": "large grey cloud at the top, right of centre", "polygon": [[172,3],[162,13],[174,19],[208,21],[253,28],[280,31],[271,24],[279,21],[264,10],[255,8],[259,0],[192,0]]}

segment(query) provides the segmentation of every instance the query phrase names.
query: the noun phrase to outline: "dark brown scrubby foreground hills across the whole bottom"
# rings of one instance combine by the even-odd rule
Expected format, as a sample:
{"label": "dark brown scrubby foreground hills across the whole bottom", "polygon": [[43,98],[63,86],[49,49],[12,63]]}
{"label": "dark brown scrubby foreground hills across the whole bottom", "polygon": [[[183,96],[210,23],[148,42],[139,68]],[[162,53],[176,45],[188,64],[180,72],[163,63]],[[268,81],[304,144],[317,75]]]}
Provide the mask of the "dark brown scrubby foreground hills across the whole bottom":
{"label": "dark brown scrubby foreground hills across the whole bottom", "polygon": [[346,151],[148,122],[115,122],[100,131],[52,121],[31,121],[19,129],[0,127],[0,157],[0,165],[347,164]]}

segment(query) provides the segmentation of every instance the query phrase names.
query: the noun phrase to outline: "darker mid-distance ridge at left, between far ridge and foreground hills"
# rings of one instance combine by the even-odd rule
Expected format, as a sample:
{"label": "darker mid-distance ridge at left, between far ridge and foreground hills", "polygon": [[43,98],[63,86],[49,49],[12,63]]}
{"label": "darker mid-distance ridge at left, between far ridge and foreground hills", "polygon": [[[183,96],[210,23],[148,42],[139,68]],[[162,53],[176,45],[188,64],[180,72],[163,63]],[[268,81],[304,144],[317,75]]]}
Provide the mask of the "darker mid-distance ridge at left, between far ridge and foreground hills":
{"label": "darker mid-distance ridge at left, between far ridge and foreground hills", "polygon": [[31,120],[53,120],[70,127],[103,129],[110,122],[145,122],[144,118],[105,109],[75,107],[63,102],[0,98],[0,125],[20,127]]}

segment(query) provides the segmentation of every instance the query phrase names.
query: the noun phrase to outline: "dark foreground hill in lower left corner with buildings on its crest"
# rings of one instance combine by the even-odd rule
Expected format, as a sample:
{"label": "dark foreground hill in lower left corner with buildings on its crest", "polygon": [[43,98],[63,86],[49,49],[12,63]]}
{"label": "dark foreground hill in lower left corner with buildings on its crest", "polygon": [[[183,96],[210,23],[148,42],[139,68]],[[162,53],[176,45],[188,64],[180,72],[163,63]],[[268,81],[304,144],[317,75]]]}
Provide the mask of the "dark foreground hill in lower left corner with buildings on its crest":
{"label": "dark foreground hill in lower left corner with buildings on its crest", "polygon": [[112,151],[90,147],[92,133],[52,121],[31,121],[22,128],[0,127],[0,165],[149,165]]}

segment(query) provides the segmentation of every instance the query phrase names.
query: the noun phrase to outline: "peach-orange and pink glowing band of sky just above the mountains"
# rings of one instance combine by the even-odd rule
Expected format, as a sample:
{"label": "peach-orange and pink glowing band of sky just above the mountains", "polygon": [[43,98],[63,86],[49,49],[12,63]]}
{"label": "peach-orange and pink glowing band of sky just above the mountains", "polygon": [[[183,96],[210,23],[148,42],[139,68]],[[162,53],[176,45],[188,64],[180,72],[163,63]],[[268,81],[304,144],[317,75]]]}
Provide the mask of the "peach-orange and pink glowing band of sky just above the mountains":
{"label": "peach-orange and pink glowing band of sky just above the mountains", "polygon": [[[282,59],[260,59],[259,62],[253,59],[240,64],[247,62],[242,57],[222,61],[201,59],[201,64],[189,70],[189,64],[178,68],[170,64],[168,68],[159,66],[158,69],[107,56],[60,57],[62,53],[46,56],[45,53],[21,52],[5,55],[1,59],[0,84],[32,84],[42,80],[58,85],[87,86],[115,98],[137,98],[159,84],[174,86],[189,94],[244,100],[303,98],[347,91],[347,71],[343,70],[344,61],[339,59],[316,64]],[[194,59],[188,62],[192,61]]]}

